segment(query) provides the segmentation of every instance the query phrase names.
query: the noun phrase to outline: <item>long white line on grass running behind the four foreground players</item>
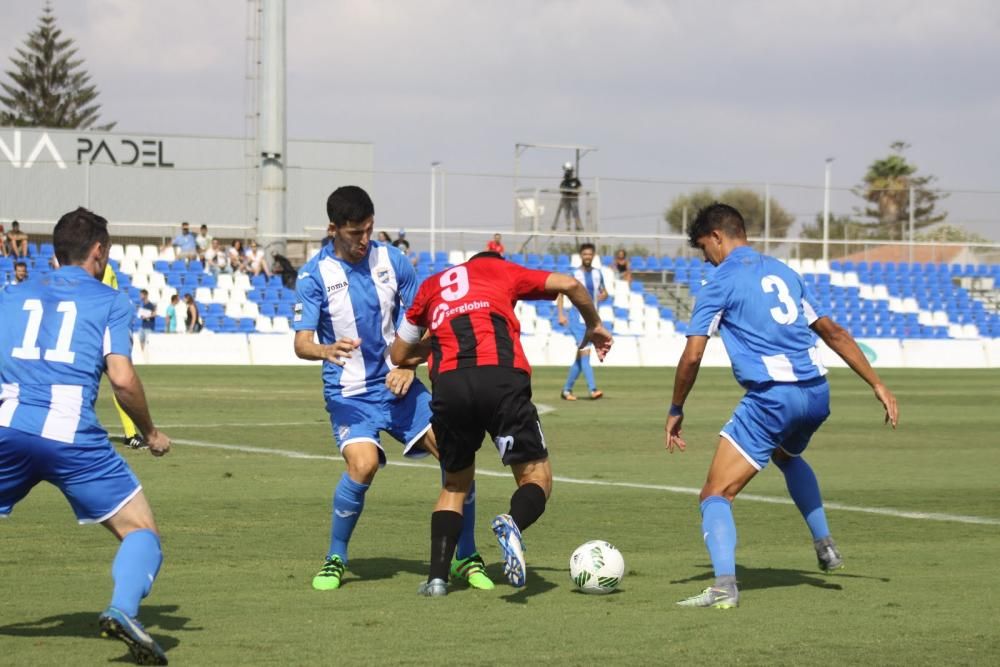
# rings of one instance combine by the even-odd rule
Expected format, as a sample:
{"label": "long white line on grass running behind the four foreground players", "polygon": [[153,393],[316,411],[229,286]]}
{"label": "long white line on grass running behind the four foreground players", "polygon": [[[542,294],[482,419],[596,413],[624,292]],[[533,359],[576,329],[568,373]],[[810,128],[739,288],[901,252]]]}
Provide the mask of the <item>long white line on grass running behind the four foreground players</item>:
{"label": "long white line on grass running behind the four foreground players", "polygon": [[[274,456],[284,456],[289,459],[310,459],[323,461],[341,461],[339,456],[329,456],[325,454],[306,454],[290,449],[271,449],[269,447],[247,447],[244,445],[224,445],[214,442],[201,442],[199,440],[175,439],[175,444],[187,445],[189,447],[203,447],[206,449],[223,449],[246,454],[271,454]],[[414,463],[412,461],[390,461],[389,465],[406,468],[430,468],[437,470],[438,466],[429,463]],[[499,472],[496,470],[476,470],[477,475],[485,477],[510,477],[509,472]],[[622,489],[645,489],[650,491],[666,491],[668,493],[682,493],[685,495],[698,495],[700,489],[689,486],[670,486],[666,484],[640,484],[638,482],[611,482],[597,479],[575,479],[573,477],[554,476],[553,479],[562,484],[586,484],[590,486],[610,486]],[[771,503],[772,505],[792,505],[788,498],[776,498],[774,496],[760,496],[754,493],[740,494],[741,500],[749,500],[758,503]],[[912,512],[909,510],[897,510],[891,507],[862,507],[859,505],[845,505],[837,502],[824,502],[827,509],[841,510],[844,512],[861,512],[863,514],[877,514],[879,516],[889,516],[896,519],[919,519],[922,521],[944,521],[948,523],[970,523],[983,526],[1000,526],[1000,519],[984,516],[966,516],[962,514],[942,514],[939,512]]]}

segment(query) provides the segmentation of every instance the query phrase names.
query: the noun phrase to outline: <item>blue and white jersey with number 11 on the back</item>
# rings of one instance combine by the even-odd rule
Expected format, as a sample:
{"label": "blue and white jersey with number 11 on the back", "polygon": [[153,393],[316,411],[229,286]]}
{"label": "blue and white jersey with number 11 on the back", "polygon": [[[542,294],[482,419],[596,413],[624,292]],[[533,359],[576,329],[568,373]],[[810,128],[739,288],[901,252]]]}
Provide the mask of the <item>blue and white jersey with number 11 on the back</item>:
{"label": "blue and white jersey with number 11 on the back", "polygon": [[0,288],[0,426],[97,447],[94,402],[105,356],[132,356],[125,294],[78,266]]}

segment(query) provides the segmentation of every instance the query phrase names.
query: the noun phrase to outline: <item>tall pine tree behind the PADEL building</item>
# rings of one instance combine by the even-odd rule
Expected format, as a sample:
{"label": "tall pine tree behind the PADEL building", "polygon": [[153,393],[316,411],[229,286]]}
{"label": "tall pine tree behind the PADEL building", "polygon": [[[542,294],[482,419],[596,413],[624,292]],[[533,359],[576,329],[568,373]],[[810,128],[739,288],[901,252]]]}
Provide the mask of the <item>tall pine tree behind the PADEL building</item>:
{"label": "tall pine tree behind the PADEL building", "polygon": [[14,68],[6,74],[11,83],[0,83],[0,125],[110,130],[115,123],[94,125],[100,104],[97,87],[76,58],[73,40],[56,26],[46,2],[38,27],[28,33],[24,46],[11,57]]}

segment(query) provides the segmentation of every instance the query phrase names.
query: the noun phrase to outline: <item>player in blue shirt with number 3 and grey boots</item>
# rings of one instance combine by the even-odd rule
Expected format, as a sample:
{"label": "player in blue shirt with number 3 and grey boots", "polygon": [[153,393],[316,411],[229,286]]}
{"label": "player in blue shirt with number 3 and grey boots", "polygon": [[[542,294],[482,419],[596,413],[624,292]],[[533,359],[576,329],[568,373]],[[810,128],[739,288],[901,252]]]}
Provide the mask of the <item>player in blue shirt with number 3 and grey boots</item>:
{"label": "player in blue shirt with number 3 and grey boots", "polygon": [[684,607],[728,609],[739,604],[736,585],[736,494],[774,461],[813,537],[824,572],[843,567],[830,535],[816,475],[802,453],[830,414],[826,368],[816,336],[875,391],[885,420],[896,427],[896,398],[857,343],[827,315],[801,276],[747,245],[740,212],[712,204],[688,230],[692,247],[718,267],[698,293],[687,345],[677,363],[665,426],[667,451],[683,451],[684,401],[694,386],[709,337],[719,331],[733,375],[747,393],[722,427],[708,479],[701,489],[702,534],[715,570],[714,585],[682,600]]}

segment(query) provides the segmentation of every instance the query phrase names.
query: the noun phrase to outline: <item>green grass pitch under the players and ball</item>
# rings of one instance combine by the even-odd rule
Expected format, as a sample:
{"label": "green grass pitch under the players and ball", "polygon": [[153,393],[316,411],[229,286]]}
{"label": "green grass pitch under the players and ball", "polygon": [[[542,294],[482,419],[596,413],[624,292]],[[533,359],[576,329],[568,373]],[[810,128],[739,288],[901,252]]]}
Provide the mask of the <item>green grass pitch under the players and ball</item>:
{"label": "green grass pitch under the players and ball", "polygon": [[[739,499],[742,606],[729,612],[674,605],[711,580],[686,489],[700,487],[739,400],[728,370],[702,371],[686,406],[689,450],[668,455],[673,369],[597,368],[606,398],[577,403],[558,398],[563,369],[538,369],[535,400],[552,408],[542,424],[562,479],[525,533],[528,585],[459,584],[443,599],[416,595],[439,482],[426,459],[378,474],[344,586],[310,587],[343,470],[323,458],[335,451],[317,369],[140,372],[176,441],[164,459],[123,452],[163,534],[163,570],[141,619],[172,664],[1000,663],[997,371],[885,371],[901,406],[896,432],[863,382],[834,371],[833,414],[807,458],[825,499],[842,507],[828,515],[847,568],[817,570],[793,506]],[[118,434],[106,388],[99,408]],[[385,445],[400,462],[398,444],[386,436]],[[491,444],[479,464],[477,538],[499,582],[489,520],[506,511],[513,482]],[[745,493],[787,498],[771,468]],[[612,595],[573,590],[569,555],[589,539],[624,554]],[[116,546],[100,527],[77,527],[48,485],[0,523],[0,664],[127,660],[120,643],[97,638]]]}

